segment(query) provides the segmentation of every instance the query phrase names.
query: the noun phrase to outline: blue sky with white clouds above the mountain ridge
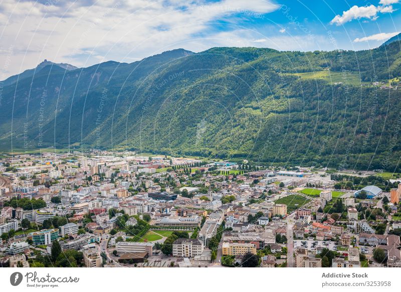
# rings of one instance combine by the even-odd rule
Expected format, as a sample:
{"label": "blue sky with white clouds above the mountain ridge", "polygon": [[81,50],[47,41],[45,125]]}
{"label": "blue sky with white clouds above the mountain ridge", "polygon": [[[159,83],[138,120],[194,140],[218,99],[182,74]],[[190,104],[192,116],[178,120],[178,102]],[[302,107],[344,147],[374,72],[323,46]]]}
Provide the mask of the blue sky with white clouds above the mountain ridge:
{"label": "blue sky with white clouds above the mountain ridge", "polygon": [[163,51],[365,50],[401,32],[401,0],[0,0],[0,80],[44,59],[88,67]]}

